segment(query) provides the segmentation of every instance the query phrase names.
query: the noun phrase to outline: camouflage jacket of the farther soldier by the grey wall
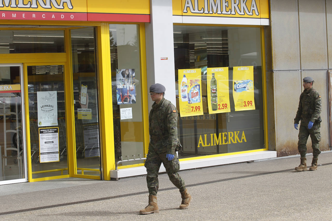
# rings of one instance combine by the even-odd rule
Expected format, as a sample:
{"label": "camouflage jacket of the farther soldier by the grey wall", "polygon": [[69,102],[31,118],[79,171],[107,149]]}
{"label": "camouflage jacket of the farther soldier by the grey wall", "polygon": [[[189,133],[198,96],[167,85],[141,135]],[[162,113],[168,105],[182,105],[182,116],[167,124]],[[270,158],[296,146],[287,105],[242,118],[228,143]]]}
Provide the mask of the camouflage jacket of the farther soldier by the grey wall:
{"label": "camouflage jacket of the farther soldier by the grey wall", "polygon": [[322,102],[319,93],[313,87],[310,90],[304,90],[300,95],[294,124],[298,124],[299,121],[304,124],[308,124],[309,121],[315,123],[320,118],[321,111]]}

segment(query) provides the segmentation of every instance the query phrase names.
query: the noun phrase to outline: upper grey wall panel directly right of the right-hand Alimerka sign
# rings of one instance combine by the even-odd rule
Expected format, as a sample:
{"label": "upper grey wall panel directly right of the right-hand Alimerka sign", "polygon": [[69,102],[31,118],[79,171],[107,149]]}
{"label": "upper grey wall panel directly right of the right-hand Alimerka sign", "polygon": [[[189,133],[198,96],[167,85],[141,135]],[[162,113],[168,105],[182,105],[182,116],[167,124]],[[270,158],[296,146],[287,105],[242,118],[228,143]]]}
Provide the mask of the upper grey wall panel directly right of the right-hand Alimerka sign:
{"label": "upper grey wall panel directly right of the right-hand Alimerka sign", "polygon": [[299,70],[297,0],[271,0],[274,70]]}

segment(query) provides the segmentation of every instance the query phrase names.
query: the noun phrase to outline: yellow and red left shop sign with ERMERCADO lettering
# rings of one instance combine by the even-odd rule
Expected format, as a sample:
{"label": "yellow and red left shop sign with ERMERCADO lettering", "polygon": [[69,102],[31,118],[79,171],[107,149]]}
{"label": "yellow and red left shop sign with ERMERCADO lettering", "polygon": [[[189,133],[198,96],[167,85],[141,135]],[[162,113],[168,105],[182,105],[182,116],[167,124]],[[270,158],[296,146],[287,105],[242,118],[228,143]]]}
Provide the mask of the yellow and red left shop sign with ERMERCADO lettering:
{"label": "yellow and red left shop sign with ERMERCADO lettering", "polygon": [[0,0],[1,19],[150,22],[150,1]]}

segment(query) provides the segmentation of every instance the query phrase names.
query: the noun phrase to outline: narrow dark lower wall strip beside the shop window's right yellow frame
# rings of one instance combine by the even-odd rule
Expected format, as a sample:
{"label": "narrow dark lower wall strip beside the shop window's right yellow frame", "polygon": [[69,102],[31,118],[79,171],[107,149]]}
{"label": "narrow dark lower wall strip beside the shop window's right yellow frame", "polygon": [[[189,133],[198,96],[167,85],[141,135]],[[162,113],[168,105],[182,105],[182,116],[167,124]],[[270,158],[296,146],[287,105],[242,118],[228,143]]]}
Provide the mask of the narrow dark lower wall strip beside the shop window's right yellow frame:
{"label": "narrow dark lower wall strip beside the shop window's right yellow frame", "polygon": [[267,112],[268,112],[268,145],[269,150],[276,151],[276,131],[274,121],[273,72],[266,73]]}

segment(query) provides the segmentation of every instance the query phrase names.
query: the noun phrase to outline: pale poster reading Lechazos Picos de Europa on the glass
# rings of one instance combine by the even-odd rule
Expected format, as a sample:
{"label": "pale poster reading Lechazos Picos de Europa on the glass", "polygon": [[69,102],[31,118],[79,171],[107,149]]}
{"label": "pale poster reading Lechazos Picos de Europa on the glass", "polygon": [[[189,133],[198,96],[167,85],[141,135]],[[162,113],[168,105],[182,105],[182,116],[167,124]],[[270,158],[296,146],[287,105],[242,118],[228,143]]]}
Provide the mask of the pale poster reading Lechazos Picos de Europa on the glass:
{"label": "pale poster reading Lechazos Picos de Europa on the glass", "polygon": [[56,91],[37,91],[38,127],[58,125]]}

